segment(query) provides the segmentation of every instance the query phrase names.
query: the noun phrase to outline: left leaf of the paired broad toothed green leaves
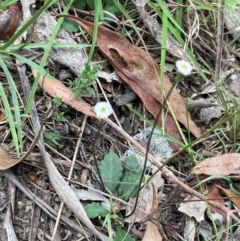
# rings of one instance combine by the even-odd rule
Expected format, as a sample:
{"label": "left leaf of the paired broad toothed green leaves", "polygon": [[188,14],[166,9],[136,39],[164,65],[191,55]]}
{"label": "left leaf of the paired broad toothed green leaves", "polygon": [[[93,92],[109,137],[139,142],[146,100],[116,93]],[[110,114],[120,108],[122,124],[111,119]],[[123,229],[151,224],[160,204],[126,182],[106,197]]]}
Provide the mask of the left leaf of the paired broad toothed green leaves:
{"label": "left leaf of the paired broad toothed green leaves", "polygon": [[119,157],[109,152],[99,164],[99,171],[106,188],[114,192],[122,177],[123,167]]}

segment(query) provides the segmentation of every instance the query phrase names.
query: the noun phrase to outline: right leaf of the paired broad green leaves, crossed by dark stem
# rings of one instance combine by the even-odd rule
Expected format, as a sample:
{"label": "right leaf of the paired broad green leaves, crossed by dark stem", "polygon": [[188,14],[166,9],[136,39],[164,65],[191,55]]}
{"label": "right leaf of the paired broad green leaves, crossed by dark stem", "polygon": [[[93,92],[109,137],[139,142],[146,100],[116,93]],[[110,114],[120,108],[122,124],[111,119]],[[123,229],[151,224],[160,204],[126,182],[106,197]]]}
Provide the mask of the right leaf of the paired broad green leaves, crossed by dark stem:
{"label": "right leaf of the paired broad green leaves, crossed by dark stem", "polygon": [[127,201],[137,194],[142,168],[135,155],[127,157],[124,166],[126,166],[126,169],[123,172],[118,191],[122,199]]}

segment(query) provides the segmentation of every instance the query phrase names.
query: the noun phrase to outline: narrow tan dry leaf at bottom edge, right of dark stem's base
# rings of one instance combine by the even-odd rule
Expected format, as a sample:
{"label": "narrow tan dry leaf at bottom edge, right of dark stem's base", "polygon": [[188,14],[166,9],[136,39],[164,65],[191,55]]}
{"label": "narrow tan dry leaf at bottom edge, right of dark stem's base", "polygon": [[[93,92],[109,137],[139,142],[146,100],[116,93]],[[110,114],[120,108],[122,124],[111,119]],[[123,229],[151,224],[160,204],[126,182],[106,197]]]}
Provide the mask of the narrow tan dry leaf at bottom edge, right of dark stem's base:
{"label": "narrow tan dry leaf at bottom edge, right of dark stem's base", "polygon": [[[153,199],[152,199],[152,212],[158,208],[157,193],[154,185],[152,184]],[[155,222],[158,220],[159,211],[154,213],[153,219]],[[158,231],[158,227],[155,223],[148,221],[146,231],[144,233],[142,241],[162,241],[162,236]]]}

